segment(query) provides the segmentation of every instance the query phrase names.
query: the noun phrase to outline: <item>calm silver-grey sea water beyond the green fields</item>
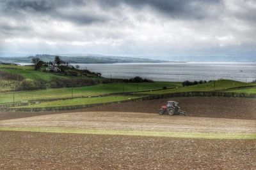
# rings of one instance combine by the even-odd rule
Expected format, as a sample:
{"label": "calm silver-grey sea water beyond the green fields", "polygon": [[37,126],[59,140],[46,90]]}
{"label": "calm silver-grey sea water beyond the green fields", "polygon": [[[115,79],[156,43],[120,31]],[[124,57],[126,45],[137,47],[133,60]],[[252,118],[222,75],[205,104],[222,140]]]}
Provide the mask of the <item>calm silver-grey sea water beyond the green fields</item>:
{"label": "calm silver-grey sea water beyond the green fields", "polygon": [[[73,64],[74,66],[77,64]],[[78,64],[81,69],[102,73],[105,78],[141,76],[154,81],[256,80],[255,62],[168,62],[129,64]]]}

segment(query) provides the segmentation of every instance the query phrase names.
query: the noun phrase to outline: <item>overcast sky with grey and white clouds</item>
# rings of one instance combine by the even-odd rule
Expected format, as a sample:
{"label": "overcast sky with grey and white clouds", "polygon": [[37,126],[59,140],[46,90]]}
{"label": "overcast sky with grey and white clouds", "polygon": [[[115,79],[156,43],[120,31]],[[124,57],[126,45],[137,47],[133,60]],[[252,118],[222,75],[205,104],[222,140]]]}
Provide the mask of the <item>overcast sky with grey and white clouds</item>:
{"label": "overcast sky with grey and white clouds", "polygon": [[0,53],[255,57],[255,0],[0,0]]}

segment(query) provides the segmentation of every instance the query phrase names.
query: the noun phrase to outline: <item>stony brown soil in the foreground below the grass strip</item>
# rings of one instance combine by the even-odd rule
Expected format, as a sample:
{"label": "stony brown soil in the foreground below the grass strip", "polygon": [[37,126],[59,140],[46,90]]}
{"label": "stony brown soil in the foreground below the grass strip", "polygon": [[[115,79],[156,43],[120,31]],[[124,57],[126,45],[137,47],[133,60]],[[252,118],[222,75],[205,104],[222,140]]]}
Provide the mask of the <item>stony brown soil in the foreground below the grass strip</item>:
{"label": "stony brown soil in the foreground below the grass strip", "polygon": [[0,132],[0,169],[256,169],[256,140]]}

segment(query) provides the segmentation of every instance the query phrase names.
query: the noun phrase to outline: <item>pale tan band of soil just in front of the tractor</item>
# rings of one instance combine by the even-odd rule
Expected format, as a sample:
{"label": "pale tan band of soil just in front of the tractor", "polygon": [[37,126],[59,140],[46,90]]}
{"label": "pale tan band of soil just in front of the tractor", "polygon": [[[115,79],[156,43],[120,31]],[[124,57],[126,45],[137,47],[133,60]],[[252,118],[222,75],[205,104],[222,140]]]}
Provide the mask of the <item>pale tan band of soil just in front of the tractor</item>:
{"label": "pale tan band of soil just in front of the tractor", "polygon": [[0,127],[65,127],[104,130],[256,133],[256,120],[133,112],[78,112],[1,120]]}

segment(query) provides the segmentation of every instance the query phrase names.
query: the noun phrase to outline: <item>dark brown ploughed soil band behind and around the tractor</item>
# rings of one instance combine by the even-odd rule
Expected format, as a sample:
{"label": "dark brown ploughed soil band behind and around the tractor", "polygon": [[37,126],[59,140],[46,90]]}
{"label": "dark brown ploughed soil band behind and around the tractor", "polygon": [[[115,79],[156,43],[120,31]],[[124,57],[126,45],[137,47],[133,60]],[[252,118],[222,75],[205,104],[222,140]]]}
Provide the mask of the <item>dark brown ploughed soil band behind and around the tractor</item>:
{"label": "dark brown ploughed soil band behind and around the tractor", "polygon": [[[256,119],[256,99],[227,97],[179,97],[172,99],[156,99],[149,101],[109,104],[106,106],[84,108],[76,111],[131,111],[158,113],[159,108],[161,108],[161,106],[169,100],[178,101],[181,109],[187,111],[188,115],[193,117]],[[67,112],[74,112],[74,110],[41,113],[2,112],[0,113],[0,120]]]}

